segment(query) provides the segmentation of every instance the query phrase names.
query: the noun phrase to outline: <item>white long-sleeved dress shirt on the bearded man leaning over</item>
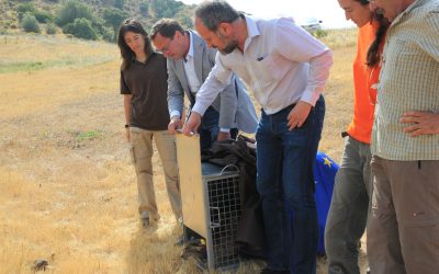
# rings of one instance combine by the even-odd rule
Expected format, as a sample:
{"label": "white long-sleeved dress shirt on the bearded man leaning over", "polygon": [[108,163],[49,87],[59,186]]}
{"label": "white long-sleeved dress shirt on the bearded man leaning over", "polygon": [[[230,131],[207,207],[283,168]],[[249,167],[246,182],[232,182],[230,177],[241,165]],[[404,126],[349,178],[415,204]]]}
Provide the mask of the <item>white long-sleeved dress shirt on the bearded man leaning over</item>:
{"label": "white long-sleeved dress shirt on the bearded man leaning over", "polygon": [[331,50],[288,18],[244,16],[248,37],[244,53],[219,52],[216,65],[196,94],[193,111],[203,114],[237,73],[267,114],[304,101],[315,105],[333,65]]}

